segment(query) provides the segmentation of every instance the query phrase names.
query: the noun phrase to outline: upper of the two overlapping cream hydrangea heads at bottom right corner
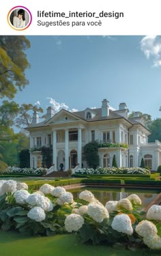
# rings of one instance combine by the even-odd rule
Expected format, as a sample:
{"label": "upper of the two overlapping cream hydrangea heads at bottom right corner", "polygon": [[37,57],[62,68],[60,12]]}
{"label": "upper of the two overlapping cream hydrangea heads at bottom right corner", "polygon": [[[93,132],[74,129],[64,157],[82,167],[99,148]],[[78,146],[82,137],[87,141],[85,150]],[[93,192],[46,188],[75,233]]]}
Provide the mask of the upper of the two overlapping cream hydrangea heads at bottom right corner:
{"label": "upper of the two overlapping cream hydrangea heads at bottom right corner", "polygon": [[151,223],[151,221],[141,221],[136,226],[135,231],[136,233],[138,233],[139,236],[142,236],[143,238],[146,238],[147,236],[151,236],[152,238],[158,233],[156,225]]}

